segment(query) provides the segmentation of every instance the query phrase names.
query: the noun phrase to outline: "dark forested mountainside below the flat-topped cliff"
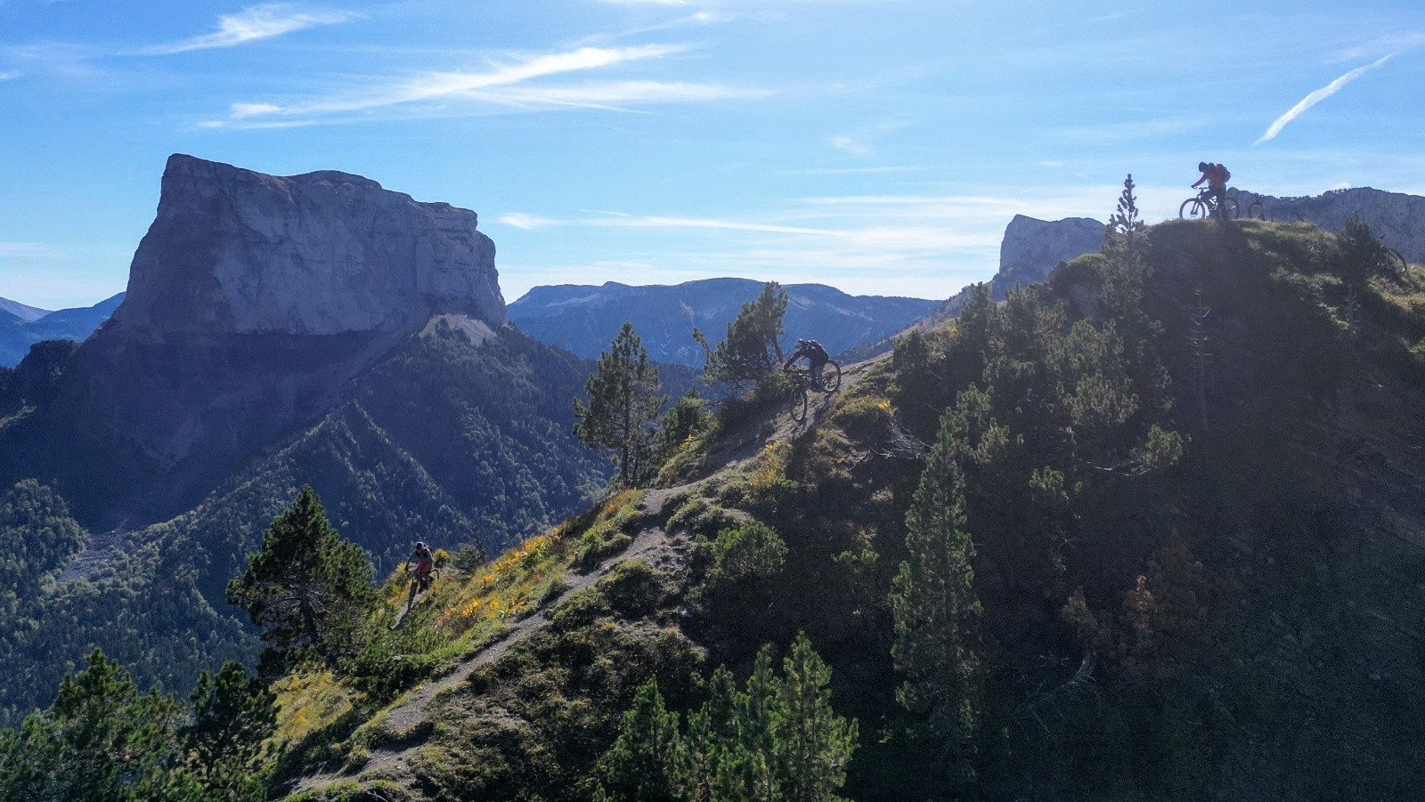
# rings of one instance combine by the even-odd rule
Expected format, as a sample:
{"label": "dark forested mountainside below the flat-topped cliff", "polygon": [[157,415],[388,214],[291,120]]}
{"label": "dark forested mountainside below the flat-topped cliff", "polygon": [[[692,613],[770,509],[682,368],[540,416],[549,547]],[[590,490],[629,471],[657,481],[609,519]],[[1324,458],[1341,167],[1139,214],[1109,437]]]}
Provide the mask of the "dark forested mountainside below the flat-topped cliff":
{"label": "dark forested mountainside below the flat-topped cliff", "polygon": [[587,362],[514,329],[476,345],[433,325],[172,520],[86,533],[44,477],[17,484],[0,524],[0,553],[17,561],[0,577],[11,598],[0,718],[44,705],[91,645],[165,687],[224,658],[251,661],[255,635],[224,588],[304,484],[382,571],[416,540],[497,553],[559,520],[608,476],[571,433],[587,375]]}

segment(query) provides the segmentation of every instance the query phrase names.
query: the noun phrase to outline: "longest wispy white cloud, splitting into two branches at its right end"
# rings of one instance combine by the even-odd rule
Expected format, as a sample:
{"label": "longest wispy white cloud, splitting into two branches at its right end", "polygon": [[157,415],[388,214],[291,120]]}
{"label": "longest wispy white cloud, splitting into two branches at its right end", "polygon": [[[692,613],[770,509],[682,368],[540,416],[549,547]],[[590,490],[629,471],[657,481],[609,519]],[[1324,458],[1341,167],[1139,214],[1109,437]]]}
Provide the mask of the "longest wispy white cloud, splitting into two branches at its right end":
{"label": "longest wispy white cloud, splitting into two branches at its right end", "polygon": [[386,115],[457,115],[470,113],[470,104],[522,110],[621,108],[638,104],[700,103],[770,94],[757,88],[687,81],[537,83],[540,78],[658,60],[685,50],[688,47],[684,44],[580,47],[563,53],[510,58],[483,71],[430,71],[405,78],[383,78],[369,85],[305,100],[234,103],[225,120],[212,120],[202,125],[209,128],[274,127],[352,123]]}

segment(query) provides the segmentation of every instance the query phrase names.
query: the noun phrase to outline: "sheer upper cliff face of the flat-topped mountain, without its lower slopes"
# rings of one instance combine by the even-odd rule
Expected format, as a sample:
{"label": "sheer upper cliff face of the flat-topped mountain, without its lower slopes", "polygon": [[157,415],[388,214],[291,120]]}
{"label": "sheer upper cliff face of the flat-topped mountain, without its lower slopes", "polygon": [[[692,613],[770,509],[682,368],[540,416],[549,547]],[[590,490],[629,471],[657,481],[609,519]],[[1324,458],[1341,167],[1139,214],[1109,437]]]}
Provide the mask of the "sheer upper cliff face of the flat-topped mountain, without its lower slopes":
{"label": "sheer upper cliff face of the flat-topped mountain, without its lower slopes", "polygon": [[476,214],[321,171],[279,178],[175,154],[113,328],[130,336],[410,330],[504,322]]}

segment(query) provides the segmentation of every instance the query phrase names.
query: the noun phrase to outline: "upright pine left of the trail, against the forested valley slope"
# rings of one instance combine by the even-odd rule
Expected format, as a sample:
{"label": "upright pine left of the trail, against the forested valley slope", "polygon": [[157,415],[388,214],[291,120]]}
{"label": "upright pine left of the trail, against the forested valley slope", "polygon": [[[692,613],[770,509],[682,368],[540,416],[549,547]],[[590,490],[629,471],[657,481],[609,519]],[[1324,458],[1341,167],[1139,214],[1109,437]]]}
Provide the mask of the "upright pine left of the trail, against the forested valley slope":
{"label": "upright pine left of the trail, against the forested valley slope", "polygon": [[640,481],[653,449],[653,425],[667,396],[658,395],[658,370],[633,323],[624,322],[584,387],[589,406],[574,399],[574,434],[586,446],[617,454],[621,486]]}

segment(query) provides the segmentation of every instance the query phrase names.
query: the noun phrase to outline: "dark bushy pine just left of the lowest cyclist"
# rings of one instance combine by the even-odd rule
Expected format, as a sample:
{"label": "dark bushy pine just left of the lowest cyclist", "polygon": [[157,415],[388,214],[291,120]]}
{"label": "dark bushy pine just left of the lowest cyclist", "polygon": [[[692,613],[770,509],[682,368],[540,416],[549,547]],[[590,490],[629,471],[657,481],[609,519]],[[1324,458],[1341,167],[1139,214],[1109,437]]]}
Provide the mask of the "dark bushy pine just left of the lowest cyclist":
{"label": "dark bushy pine just left of the lowest cyclist", "polygon": [[247,610],[275,648],[309,645],[333,660],[352,647],[376,597],[370,577],[366,553],[332,527],[308,486],[262,533],[242,577],[228,583],[228,603]]}

